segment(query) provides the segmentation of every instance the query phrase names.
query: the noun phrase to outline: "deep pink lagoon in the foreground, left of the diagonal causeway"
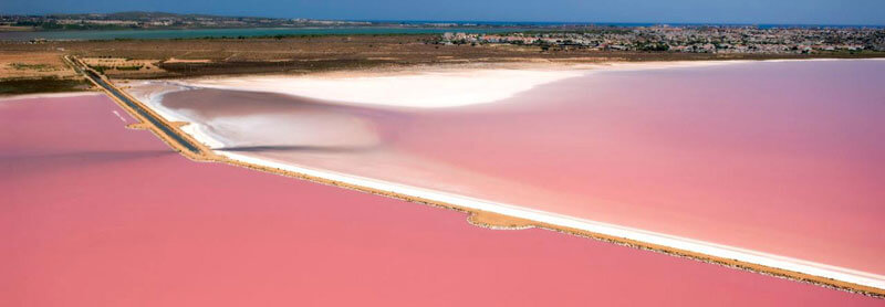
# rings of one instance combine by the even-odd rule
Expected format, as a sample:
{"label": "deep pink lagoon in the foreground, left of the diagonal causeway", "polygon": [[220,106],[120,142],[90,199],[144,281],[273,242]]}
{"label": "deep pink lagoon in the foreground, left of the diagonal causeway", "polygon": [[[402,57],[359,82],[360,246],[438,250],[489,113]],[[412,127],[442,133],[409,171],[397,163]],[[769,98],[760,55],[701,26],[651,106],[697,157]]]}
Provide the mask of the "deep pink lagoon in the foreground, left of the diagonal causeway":
{"label": "deep pink lagoon in the foreground, left of the diagonal causeway", "polygon": [[0,102],[0,306],[882,306],[218,163],[103,96]]}

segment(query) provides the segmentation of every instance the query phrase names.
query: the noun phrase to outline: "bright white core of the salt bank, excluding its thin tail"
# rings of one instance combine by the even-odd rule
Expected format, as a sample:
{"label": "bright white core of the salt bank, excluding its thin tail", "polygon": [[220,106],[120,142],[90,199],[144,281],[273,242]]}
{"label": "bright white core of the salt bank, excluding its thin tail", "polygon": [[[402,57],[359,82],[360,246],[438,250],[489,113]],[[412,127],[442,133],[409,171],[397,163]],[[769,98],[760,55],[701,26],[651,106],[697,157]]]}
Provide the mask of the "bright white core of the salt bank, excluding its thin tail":
{"label": "bright white core of the salt bank, excluding its thin tail", "polygon": [[580,76],[583,72],[475,70],[408,73],[385,76],[261,76],[187,82],[190,85],[378,106],[439,108],[487,104],[534,86]]}

